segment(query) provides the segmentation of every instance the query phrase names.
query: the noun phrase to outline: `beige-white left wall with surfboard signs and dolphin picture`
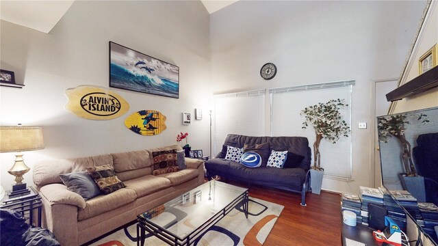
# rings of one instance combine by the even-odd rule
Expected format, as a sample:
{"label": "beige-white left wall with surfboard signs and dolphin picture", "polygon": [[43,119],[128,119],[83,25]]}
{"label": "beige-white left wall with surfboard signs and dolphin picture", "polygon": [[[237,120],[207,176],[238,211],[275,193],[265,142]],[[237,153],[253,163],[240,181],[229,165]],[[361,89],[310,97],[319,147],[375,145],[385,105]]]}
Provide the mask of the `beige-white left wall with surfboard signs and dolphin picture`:
{"label": "beige-white left wall with surfboard signs and dolphin picture", "polygon": [[[23,89],[0,87],[0,124],[42,126],[46,148],[25,152],[41,159],[107,154],[175,144],[188,132],[192,148],[209,149],[209,15],[201,1],[75,1],[49,34],[1,20],[1,68],[16,72]],[[66,111],[65,90],[108,87],[108,41],[179,66],[179,99],[111,88],[130,104],[114,120],[85,120]],[[203,120],[182,124],[182,112],[204,110]],[[152,137],[125,127],[128,115],[155,109],[167,129]],[[181,144],[182,145],[182,144]],[[10,189],[14,153],[0,154],[1,185]],[[32,184],[32,170],[25,182]]]}

